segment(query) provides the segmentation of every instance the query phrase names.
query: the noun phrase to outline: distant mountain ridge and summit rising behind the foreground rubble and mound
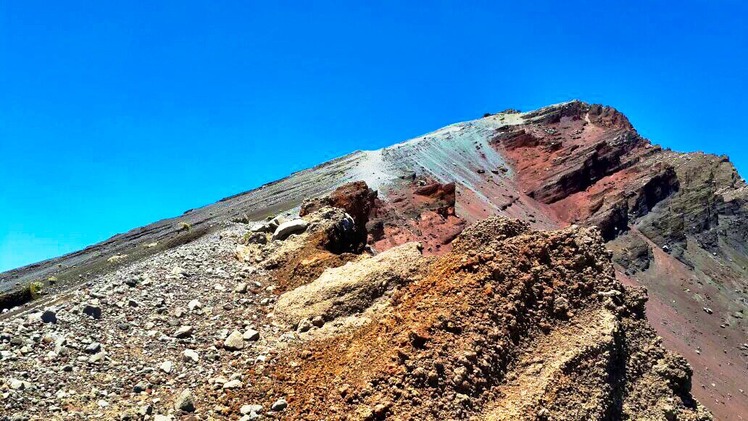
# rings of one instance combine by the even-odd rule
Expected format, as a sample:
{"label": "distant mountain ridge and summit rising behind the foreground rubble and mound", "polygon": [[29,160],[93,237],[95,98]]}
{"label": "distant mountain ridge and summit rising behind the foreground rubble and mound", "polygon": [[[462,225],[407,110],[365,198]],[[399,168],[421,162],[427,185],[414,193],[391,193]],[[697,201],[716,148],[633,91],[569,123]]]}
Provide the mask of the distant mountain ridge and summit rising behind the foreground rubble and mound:
{"label": "distant mountain ridge and summit rising behind the foreground rubble and mound", "polygon": [[424,254],[444,255],[465,226],[495,215],[537,230],[600,227],[619,280],[649,289],[650,323],[694,367],[696,397],[720,418],[747,413],[740,380],[748,377],[748,349],[741,342],[745,181],[723,157],[663,149],[617,110],[577,100],[487,115],[356,151],[80,252],[5,272],[0,287],[16,288],[6,294],[8,305],[31,298],[30,291],[17,295],[17,282],[42,280],[55,295],[227,224],[293,212],[305,199],[358,180],[376,191],[373,210],[362,216],[377,252],[420,241]]}

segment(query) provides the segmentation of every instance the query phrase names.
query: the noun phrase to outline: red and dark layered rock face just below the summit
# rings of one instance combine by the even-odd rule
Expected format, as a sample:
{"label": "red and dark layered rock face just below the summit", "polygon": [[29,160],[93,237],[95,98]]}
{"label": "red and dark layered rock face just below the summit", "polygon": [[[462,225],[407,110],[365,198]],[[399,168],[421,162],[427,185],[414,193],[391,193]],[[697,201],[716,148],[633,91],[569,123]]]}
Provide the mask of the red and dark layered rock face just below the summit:
{"label": "red and dark layered rock face just below the summit", "polygon": [[540,121],[500,130],[491,144],[527,195],[550,205],[561,221],[598,225],[612,239],[629,214],[677,190],[672,166],[652,159],[660,149],[617,111],[574,105]]}

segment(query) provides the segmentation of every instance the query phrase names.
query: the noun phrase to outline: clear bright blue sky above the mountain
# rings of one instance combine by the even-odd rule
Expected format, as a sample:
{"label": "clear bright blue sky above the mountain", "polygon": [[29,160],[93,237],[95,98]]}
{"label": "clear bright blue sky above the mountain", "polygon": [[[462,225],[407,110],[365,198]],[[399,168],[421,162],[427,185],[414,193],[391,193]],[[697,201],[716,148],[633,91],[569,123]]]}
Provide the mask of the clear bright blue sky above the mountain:
{"label": "clear bright blue sky above the mountain", "polygon": [[0,270],[573,98],[746,174],[747,28],[742,0],[0,1]]}

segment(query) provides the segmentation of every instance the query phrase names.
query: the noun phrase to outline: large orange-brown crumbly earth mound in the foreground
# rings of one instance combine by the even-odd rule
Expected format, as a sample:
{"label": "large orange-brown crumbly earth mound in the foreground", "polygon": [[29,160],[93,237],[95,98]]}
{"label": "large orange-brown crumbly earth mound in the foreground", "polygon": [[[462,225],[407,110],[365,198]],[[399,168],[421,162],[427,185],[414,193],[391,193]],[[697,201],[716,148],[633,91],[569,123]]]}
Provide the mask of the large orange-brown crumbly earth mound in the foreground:
{"label": "large orange-brown crumbly earth mound in the foreground", "polygon": [[232,405],[283,396],[287,419],[710,419],[596,230],[491,218],[424,275],[370,323],[281,354]]}

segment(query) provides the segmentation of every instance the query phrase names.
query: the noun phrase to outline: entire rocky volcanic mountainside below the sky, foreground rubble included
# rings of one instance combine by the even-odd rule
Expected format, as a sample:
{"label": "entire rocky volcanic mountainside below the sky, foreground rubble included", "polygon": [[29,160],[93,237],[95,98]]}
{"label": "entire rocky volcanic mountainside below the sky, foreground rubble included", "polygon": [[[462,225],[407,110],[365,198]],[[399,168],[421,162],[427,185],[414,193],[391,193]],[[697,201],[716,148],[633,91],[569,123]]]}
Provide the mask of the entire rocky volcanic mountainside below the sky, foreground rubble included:
{"label": "entire rocky volcanic mountainside below the sky, foreground rubble included", "polygon": [[746,192],[578,101],[356,152],[0,275],[0,416],[743,419]]}

